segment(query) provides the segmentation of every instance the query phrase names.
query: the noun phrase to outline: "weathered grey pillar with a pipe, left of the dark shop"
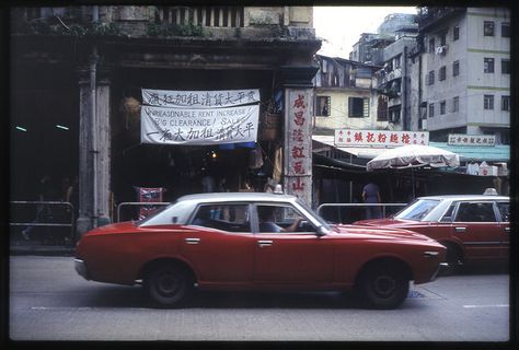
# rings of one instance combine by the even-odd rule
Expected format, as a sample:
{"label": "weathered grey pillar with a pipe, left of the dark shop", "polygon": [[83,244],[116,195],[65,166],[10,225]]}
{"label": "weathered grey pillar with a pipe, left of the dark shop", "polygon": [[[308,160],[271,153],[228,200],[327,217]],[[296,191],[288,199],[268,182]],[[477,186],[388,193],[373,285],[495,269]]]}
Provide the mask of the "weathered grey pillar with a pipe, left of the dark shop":
{"label": "weathered grey pillar with a pipe, left of the dark shop", "polygon": [[[93,58],[95,59],[95,58]],[[94,62],[79,71],[79,217],[77,235],[109,222],[109,80]]]}

